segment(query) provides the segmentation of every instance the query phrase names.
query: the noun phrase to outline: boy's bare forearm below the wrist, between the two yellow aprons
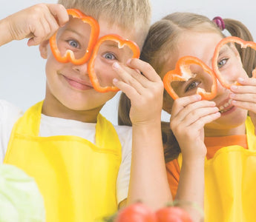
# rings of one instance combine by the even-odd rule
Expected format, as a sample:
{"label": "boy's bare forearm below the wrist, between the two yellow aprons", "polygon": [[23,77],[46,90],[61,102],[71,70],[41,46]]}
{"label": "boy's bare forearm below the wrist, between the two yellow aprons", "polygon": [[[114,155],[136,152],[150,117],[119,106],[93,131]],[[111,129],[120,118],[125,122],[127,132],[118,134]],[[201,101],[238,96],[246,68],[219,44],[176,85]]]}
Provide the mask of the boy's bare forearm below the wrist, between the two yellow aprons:
{"label": "boy's bare forearm below the wrist, between the two yellow aprons", "polygon": [[158,209],[172,201],[163,156],[160,121],[151,126],[133,126],[128,204],[136,201],[142,201],[152,209]]}

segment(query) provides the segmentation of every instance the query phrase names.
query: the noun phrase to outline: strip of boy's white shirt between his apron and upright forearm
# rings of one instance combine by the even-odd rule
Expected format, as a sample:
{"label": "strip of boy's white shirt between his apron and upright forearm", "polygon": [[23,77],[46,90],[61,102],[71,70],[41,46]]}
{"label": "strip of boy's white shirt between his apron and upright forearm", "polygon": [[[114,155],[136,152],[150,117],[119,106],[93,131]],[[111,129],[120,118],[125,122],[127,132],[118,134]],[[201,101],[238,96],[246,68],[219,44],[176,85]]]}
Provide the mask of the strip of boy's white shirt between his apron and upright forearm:
{"label": "strip of boy's white shirt between his apron and upright forearm", "polygon": [[122,162],[116,181],[116,198],[119,204],[128,197],[131,172],[132,129],[131,127],[117,126],[116,132],[119,135],[119,141],[122,145]]}

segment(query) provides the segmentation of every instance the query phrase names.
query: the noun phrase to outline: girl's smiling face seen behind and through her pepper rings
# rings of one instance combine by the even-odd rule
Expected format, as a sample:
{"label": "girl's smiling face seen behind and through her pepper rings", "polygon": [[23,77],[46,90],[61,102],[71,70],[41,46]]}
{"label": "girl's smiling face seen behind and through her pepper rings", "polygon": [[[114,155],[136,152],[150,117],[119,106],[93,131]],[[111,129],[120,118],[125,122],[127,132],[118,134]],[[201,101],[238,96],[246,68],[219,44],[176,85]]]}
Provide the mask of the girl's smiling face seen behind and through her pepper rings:
{"label": "girl's smiling face seen behind and through her pepper rings", "polygon": [[[177,43],[177,52],[174,53],[176,56],[175,58],[174,56],[171,58],[170,55],[170,59],[163,67],[162,77],[169,70],[174,70],[178,59],[186,55],[200,58],[201,61],[212,69],[211,60],[214,54],[214,49],[221,39],[222,36],[217,33],[197,33],[193,31],[183,33]],[[226,81],[234,83],[237,81],[238,77],[247,77],[245,70],[243,70],[243,64],[240,61],[240,55],[234,46],[224,46],[220,50],[217,62],[220,73],[225,76]],[[195,74],[194,77],[186,82],[174,82],[174,84],[171,85],[177,95],[180,97],[193,95],[198,87],[209,92],[212,84],[210,75],[196,65],[191,65],[190,69],[191,73]],[[222,87],[217,81],[217,96],[212,99],[212,101],[215,101],[219,108],[221,117],[211,124],[208,124],[206,128],[224,129],[226,127],[237,127],[240,124],[243,124],[246,119],[247,111],[232,106],[229,94],[230,90]],[[165,99],[165,101],[168,101],[168,99]],[[165,104],[164,106],[168,107],[168,105]],[[171,110],[167,111],[171,113]]]}

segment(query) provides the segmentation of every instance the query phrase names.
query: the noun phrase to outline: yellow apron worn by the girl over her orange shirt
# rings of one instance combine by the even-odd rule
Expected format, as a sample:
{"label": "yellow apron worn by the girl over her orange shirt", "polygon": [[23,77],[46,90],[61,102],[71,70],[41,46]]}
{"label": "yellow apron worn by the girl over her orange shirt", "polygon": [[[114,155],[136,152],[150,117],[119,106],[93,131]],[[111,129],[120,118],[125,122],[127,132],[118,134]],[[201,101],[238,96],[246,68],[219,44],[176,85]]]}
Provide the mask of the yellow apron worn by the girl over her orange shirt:
{"label": "yellow apron worn by the girl over her orange shirt", "polygon": [[[256,221],[256,136],[250,118],[246,120],[246,137],[249,149],[223,147],[206,159],[206,222]],[[181,166],[181,155],[178,162]]]}

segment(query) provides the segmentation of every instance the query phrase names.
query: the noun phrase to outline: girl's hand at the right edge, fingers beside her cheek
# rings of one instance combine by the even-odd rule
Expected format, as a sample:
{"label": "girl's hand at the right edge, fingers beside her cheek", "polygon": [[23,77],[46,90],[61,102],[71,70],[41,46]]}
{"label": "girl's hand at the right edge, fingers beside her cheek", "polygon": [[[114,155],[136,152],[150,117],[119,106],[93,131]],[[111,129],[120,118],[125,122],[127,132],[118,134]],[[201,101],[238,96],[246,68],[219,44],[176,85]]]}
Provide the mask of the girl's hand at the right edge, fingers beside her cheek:
{"label": "girl's hand at the right edge, fingers beside her cheek", "polygon": [[255,125],[256,135],[256,78],[238,78],[240,86],[232,86],[230,98],[236,107],[249,110],[249,115]]}

